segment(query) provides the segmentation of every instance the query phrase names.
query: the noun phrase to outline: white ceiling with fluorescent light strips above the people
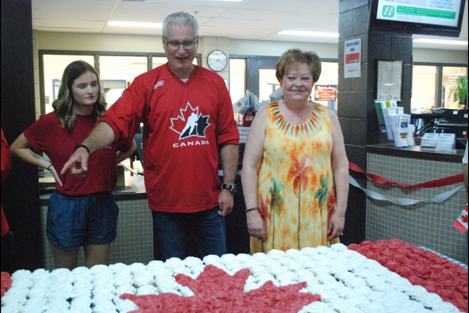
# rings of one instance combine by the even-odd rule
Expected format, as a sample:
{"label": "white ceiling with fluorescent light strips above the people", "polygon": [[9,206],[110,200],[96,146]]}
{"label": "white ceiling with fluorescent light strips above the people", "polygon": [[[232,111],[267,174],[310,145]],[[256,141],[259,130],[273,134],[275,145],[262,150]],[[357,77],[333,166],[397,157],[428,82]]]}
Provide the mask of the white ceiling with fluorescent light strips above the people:
{"label": "white ceiling with fluorescent light strips above the people", "polygon": [[[144,1],[144,2],[137,2]],[[339,32],[339,0],[32,0],[33,29],[56,32],[161,35],[158,28],[107,26],[109,21],[161,23],[186,11],[201,36],[336,44],[338,38],[278,35],[281,30]],[[435,38],[414,35],[415,38]],[[449,39],[437,37],[439,39]],[[468,42],[466,2],[460,40]],[[468,45],[414,43],[414,47],[467,50]]]}

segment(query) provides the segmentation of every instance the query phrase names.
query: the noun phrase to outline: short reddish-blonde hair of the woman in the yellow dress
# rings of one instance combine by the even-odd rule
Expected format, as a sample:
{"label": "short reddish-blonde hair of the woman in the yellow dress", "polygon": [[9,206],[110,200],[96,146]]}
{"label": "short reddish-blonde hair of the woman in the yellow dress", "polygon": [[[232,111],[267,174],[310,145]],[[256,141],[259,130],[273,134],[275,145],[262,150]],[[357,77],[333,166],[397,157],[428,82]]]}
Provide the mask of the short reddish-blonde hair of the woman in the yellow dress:
{"label": "short reddish-blonde hair of the woman in the yellow dress", "polygon": [[283,52],[278,58],[275,65],[275,76],[278,80],[283,78],[285,71],[292,65],[305,63],[308,65],[311,74],[313,75],[313,84],[319,80],[321,75],[321,59],[313,51],[302,51],[300,49],[288,49]]}

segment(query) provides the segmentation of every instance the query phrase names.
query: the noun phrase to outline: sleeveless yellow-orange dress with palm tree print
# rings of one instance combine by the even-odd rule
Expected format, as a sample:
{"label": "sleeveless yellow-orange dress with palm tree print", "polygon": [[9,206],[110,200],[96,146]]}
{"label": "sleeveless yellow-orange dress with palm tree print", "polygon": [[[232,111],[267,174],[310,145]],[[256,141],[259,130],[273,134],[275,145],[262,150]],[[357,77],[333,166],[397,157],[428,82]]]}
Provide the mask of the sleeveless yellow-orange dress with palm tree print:
{"label": "sleeveless yellow-orange dress with palm tree print", "polygon": [[267,240],[251,237],[251,252],[330,246],[327,225],[336,205],[331,168],[332,126],[327,108],[313,103],[310,118],[289,123],[278,101],[266,106],[264,155],[257,203]]}

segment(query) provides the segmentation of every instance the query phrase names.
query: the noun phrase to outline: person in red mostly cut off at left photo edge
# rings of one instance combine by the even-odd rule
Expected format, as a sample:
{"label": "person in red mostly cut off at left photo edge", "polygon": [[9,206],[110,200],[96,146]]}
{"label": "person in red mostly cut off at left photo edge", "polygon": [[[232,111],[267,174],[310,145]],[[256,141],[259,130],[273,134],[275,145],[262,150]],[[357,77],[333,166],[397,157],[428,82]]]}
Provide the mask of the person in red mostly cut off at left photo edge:
{"label": "person in red mostly cut off at left photo edge", "polygon": [[[1,185],[11,170],[11,150],[1,129]],[[1,271],[11,273],[11,257],[13,255],[13,234],[6,221],[1,205]]]}

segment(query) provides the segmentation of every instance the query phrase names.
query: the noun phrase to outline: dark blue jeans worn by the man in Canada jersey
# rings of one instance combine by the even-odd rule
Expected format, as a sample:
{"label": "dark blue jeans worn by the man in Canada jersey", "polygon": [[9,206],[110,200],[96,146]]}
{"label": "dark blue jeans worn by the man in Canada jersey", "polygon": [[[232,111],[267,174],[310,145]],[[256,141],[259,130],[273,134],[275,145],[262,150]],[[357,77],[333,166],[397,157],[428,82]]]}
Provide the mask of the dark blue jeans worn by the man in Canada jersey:
{"label": "dark blue jeans worn by the man in Canada jersey", "polygon": [[226,254],[225,218],[218,214],[218,207],[196,213],[151,213],[154,239],[161,248],[163,261],[190,256],[194,242],[201,259],[209,254]]}

